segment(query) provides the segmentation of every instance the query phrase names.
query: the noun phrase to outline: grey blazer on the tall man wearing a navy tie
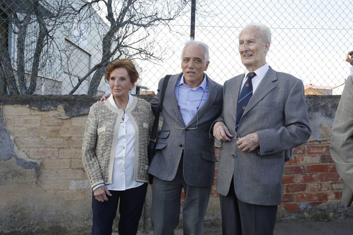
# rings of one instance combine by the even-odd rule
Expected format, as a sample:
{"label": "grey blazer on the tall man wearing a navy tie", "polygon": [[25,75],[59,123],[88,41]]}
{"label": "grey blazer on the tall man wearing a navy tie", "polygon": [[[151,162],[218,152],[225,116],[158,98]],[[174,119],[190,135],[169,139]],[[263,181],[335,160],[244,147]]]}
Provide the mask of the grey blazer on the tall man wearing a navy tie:
{"label": "grey blazer on the tall man wearing a navy tie", "polygon": [[[235,132],[241,74],[225,82],[223,109],[216,121],[234,135],[221,143],[217,191],[226,196],[234,174],[234,190],[242,201],[256,205],[279,205],[285,155],[305,143],[311,134],[303,82],[271,67],[251,97]],[[212,134],[212,131],[210,131]],[[239,137],[257,132],[260,147],[243,152]]]}

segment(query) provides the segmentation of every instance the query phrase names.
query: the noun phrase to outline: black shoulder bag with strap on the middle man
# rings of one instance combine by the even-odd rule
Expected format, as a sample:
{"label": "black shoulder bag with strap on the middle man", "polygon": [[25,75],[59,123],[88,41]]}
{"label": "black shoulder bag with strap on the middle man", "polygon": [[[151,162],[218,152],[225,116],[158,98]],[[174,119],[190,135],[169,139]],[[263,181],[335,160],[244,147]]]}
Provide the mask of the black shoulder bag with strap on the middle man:
{"label": "black shoulder bag with strap on the middle man", "polygon": [[[154,156],[154,151],[156,149],[156,135],[157,135],[157,130],[158,130],[159,115],[162,111],[162,103],[163,103],[163,99],[164,99],[164,94],[166,93],[166,89],[167,89],[167,85],[168,85],[168,81],[169,81],[170,76],[172,76],[172,75],[166,75],[164,77],[162,91],[161,91],[160,105],[159,105],[157,112],[154,113],[155,120],[154,120],[154,123],[152,126],[150,141],[149,141],[148,147],[147,147],[149,165],[151,165],[151,162],[152,162],[152,159]],[[153,175],[149,174],[150,184],[153,184],[153,177],[154,177]]]}

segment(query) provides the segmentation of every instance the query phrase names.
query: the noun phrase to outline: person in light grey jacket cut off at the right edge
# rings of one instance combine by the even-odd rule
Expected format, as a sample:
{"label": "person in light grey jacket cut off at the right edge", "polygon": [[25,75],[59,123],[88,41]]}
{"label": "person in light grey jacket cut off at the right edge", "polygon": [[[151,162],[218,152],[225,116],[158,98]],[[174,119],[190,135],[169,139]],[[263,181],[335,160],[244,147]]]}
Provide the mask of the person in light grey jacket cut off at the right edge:
{"label": "person in light grey jacket cut off at the right edge", "polygon": [[332,127],[331,157],[343,179],[342,205],[353,201],[353,76],[346,80]]}

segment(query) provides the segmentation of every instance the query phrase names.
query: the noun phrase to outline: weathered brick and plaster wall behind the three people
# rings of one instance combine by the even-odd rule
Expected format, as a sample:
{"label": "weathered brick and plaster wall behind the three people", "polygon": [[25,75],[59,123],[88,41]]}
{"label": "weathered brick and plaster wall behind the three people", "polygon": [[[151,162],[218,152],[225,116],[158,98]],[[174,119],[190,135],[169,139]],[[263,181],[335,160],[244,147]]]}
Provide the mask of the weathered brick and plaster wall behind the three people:
{"label": "weathered brick and plaster wall behind the three people", "polygon": [[[339,99],[306,99],[313,136],[285,163],[277,219],[353,217],[351,209],[340,205],[343,182],[329,149]],[[89,233],[92,191],[81,147],[87,113],[96,100],[87,96],[0,99],[0,198],[12,195],[11,200],[0,200],[0,234]],[[217,159],[219,150],[216,144]],[[217,163],[215,175],[206,227],[221,225]],[[184,193],[181,199],[183,203]],[[151,230],[150,204],[149,187],[140,230]]]}

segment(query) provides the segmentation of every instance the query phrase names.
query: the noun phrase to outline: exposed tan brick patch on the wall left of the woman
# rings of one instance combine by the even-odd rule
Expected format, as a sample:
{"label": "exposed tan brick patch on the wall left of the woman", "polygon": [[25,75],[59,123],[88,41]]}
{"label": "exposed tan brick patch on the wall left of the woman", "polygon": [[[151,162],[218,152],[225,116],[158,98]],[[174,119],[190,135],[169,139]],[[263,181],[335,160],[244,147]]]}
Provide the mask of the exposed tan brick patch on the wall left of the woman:
{"label": "exposed tan brick patch on the wall left of the woman", "polygon": [[90,189],[82,165],[87,115],[65,117],[60,111],[37,111],[3,105],[5,129],[20,151],[40,163],[37,186],[44,190]]}

